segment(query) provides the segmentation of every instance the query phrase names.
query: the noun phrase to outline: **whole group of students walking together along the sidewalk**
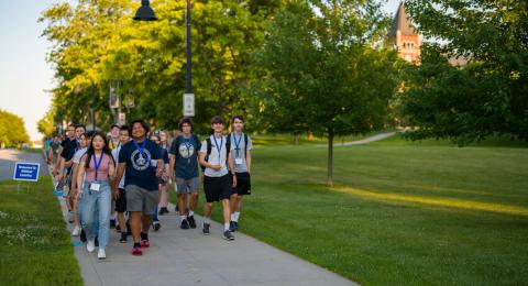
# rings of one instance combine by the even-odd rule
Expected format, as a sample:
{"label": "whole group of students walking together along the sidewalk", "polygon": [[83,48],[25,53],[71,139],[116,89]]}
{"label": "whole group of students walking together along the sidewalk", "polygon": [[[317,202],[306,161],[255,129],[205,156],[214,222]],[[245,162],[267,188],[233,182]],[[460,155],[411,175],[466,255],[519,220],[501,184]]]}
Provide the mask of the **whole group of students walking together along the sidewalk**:
{"label": "whole group of students walking together along the sidewalk", "polygon": [[234,240],[242,198],[251,195],[252,142],[241,116],[231,124],[232,133],[224,135],[223,119],[213,117],[212,134],[200,141],[193,133],[193,121],[183,118],[172,144],[167,132],[150,133],[143,120],[112,125],[108,139],[101,132],[87,133],[84,125],[68,125],[67,138],[50,150],[48,162],[56,188],[69,187],[65,197],[68,221],[75,223],[72,235],[80,235],[88,252],[98,248],[98,258],[103,260],[110,228],[116,227],[120,242],[132,235],[132,254],[142,255],[150,246],[150,228],[160,230],[158,215],[169,212],[170,182],[178,197],[179,228],[196,229],[201,166],[206,195],[201,231],[210,234],[211,209],[221,201],[223,238]]}

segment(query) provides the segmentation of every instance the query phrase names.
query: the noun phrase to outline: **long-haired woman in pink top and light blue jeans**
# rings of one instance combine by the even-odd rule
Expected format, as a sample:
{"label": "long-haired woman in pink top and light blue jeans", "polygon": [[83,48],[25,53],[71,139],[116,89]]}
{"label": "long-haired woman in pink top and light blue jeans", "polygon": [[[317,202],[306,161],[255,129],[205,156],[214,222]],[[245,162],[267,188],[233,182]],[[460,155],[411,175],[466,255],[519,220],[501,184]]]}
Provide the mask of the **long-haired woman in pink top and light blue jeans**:
{"label": "long-haired woman in pink top and light blue jeans", "polygon": [[77,186],[84,187],[78,188],[77,194],[81,199],[81,226],[87,237],[86,249],[88,252],[95,251],[97,235],[99,239],[97,257],[99,260],[107,257],[106,246],[110,235],[110,182],[114,173],[116,165],[108,148],[107,139],[102,133],[96,132],[88,151],[79,163]]}

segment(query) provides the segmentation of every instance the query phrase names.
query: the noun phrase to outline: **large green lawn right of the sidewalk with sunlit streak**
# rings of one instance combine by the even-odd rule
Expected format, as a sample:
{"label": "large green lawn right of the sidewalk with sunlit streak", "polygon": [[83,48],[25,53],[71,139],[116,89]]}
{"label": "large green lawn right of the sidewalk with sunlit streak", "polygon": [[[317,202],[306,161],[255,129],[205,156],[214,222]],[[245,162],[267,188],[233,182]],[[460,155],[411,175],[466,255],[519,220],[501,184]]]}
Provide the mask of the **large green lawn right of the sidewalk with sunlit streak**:
{"label": "large green lawn right of the sidewalk with sunlit streak", "polygon": [[528,280],[526,144],[336,147],[333,188],[326,151],[257,147],[242,231],[365,285]]}

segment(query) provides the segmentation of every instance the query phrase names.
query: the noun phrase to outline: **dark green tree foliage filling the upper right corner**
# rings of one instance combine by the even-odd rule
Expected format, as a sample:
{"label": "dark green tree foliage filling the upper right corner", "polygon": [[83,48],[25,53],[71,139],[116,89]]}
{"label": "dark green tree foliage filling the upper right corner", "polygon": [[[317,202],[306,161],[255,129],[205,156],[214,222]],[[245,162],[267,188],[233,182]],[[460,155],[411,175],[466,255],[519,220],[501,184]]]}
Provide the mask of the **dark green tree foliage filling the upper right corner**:
{"label": "dark green tree foliage filling the upper right corner", "polygon": [[[403,112],[413,139],[459,145],[493,134],[528,140],[528,2],[408,0],[426,38],[421,66],[406,73]],[[464,57],[469,64],[449,65]]]}

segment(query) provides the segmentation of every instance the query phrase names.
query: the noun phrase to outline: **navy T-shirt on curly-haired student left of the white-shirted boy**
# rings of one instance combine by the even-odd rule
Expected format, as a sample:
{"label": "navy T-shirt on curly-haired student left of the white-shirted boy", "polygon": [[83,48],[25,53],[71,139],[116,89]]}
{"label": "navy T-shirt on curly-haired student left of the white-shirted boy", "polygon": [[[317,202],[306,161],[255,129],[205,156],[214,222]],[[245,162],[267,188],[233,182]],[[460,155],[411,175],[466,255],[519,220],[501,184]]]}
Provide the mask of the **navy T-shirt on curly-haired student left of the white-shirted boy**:
{"label": "navy T-shirt on curly-haired student left of the white-shirted boy", "polygon": [[189,139],[182,135],[173,141],[170,154],[176,156],[174,172],[177,178],[191,179],[198,177],[198,152],[196,151],[200,147],[201,142],[194,134]]}

